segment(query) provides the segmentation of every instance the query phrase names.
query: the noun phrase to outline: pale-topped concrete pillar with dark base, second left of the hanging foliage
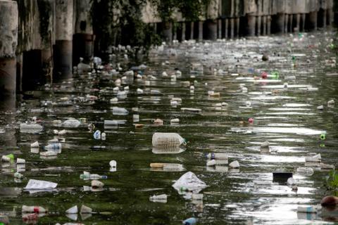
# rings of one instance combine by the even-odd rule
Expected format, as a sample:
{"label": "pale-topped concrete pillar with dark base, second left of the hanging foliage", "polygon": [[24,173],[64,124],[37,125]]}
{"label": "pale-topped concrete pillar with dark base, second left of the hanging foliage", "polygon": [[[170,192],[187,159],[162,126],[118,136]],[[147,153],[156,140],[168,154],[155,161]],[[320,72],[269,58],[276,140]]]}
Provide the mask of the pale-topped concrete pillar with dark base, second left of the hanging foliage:
{"label": "pale-topped concrete pillar with dark base, second left of the hanging foliage", "polygon": [[56,0],[56,41],[54,71],[61,77],[72,76],[73,59],[73,0]]}

